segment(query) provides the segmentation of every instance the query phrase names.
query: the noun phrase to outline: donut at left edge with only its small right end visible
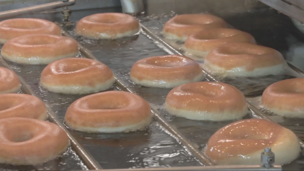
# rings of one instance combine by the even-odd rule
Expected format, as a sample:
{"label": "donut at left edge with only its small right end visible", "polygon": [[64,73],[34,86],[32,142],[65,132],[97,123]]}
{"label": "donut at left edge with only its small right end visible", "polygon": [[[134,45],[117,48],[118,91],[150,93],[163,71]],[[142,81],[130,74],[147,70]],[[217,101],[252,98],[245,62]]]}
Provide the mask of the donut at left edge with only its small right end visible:
{"label": "donut at left edge with only its small right end visible", "polygon": [[18,76],[13,71],[0,67],[0,94],[17,93],[20,87]]}

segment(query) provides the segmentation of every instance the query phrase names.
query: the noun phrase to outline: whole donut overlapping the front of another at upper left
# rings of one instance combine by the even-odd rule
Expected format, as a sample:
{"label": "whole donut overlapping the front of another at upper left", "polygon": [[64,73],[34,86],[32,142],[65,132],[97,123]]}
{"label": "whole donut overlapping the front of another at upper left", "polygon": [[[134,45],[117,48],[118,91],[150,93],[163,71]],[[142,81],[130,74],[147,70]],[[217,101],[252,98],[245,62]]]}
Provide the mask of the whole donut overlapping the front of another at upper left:
{"label": "whole donut overlapping the front of another at upper left", "polygon": [[78,55],[76,40],[48,34],[20,36],[7,41],[1,56],[23,64],[49,64],[55,60]]}

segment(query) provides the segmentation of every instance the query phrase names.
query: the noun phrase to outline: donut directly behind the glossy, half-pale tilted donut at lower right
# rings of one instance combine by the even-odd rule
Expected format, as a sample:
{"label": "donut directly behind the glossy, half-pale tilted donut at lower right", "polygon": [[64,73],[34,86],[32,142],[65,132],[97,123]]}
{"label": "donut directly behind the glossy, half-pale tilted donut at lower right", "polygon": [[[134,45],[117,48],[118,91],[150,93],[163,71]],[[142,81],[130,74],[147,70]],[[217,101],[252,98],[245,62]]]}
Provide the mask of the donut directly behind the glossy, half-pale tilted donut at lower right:
{"label": "donut directly behind the glossy, half-pale tilted donut at lower right", "polygon": [[175,87],[168,93],[165,105],[171,115],[193,120],[233,120],[248,113],[241,91],[225,83],[209,81]]}

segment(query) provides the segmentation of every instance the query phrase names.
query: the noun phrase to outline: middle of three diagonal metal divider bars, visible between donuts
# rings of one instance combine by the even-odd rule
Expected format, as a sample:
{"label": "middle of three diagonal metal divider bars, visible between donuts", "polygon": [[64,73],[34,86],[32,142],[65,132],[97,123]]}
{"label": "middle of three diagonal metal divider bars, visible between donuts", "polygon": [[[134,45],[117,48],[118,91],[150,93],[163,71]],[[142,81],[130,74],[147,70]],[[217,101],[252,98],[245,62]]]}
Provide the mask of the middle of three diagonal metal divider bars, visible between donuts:
{"label": "middle of three diagonal metal divider bars, visible between donuts", "polygon": [[[60,25],[59,25],[60,26]],[[62,28],[60,26],[60,28],[62,30],[64,30],[64,28]],[[66,31],[64,31],[62,33],[63,36],[67,36],[67,37],[71,37],[72,36],[67,33]],[[88,49],[86,49],[84,46],[82,46],[79,42],[78,42],[78,46],[79,46],[79,50],[82,54],[85,55],[85,57],[89,58],[89,59],[93,59],[93,60],[97,60],[99,61]],[[102,61],[101,61],[102,62]],[[129,88],[128,86],[124,85],[123,82],[117,78],[116,76],[114,76],[115,78],[115,84],[123,91],[128,91],[130,93],[134,93],[136,94],[131,88]],[[154,114],[154,119],[156,121],[158,121],[162,127],[164,127],[165,129],[167,129],[172,135],[174,135],[175,137],[178,138],[178,140],[187,147],[187,149],[195,156],[197,157],[202,163],[204,163],[207,166],[212,166],[214,165],[214,163],[212,161],[210,161],[208,159],[208,157],[205,156],[205,154],[203,154],[202,152],[200,152],[199,150],[195,149],[194,145],[192,145],[191,142],[189,142],[186,138],[183,137],[183,135],[178,132],[178,130],[173,127],[171,124],[169,124],[159,113],[157,110],[155,110],[155,108],[153,108],[152,105],[150,105],[151,107],[151,112],[152,114]]]}

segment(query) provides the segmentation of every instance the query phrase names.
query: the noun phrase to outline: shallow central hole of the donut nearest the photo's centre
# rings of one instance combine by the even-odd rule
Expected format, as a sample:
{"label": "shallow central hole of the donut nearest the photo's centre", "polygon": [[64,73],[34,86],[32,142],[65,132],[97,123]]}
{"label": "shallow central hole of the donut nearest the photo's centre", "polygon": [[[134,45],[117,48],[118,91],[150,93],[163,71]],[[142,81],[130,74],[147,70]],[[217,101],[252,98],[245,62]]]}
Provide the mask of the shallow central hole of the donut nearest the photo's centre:
{"label": "shallow central hole of the donut nearest the photo's centre", "polygon": [[184,58],[178,56],[157,56],[146,60],[147,64],[158,66],[158,67],[181,67],[185,65],[187,61]]}

